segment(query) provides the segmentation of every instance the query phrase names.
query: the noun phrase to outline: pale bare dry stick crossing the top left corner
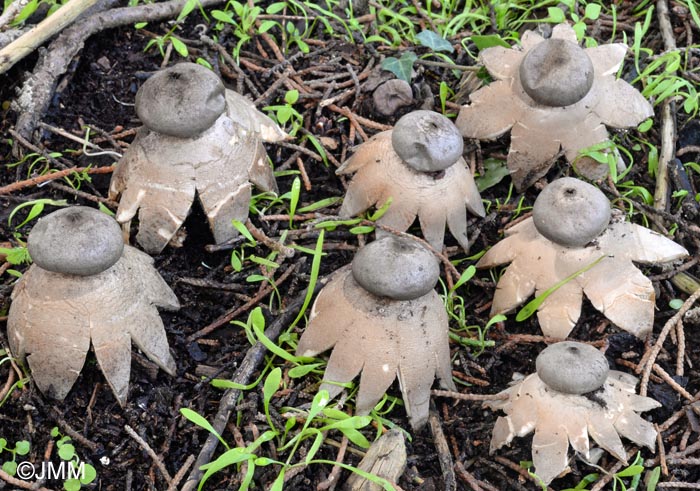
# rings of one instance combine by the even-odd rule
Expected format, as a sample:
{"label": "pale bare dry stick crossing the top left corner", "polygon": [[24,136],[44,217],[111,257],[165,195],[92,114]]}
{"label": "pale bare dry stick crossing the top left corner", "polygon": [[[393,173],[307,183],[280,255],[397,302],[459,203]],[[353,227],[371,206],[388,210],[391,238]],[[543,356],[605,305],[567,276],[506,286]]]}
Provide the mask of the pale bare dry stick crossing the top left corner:
{"label": "pale bare dry stick crossing the top left corner", "polygon": [[0,74],[41,46],[47,39],[61,32],[97,0],[69,0],[52,15],[0,50]]}

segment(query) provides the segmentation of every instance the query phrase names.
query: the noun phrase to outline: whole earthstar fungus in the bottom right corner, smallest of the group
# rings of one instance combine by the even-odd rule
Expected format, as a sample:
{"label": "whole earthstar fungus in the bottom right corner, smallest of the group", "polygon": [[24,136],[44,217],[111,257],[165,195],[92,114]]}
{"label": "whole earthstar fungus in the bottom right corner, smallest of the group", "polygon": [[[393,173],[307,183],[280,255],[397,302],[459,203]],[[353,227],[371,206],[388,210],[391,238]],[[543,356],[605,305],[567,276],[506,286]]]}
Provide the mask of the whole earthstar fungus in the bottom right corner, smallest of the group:
{"label": "whole earthstar fungus in the bottom right corner, smallest of the group", "polygon": [[549,484],[568,466],[569,444],[590,460],[588,437],[626,463],[622,435],[654,451],[656,430],[638,412],[661,404],[636,394],[637,379],[610,370],[603,353],[570,341],[545,348],[537,372],[501,392],[507,399],[487,402],[502,410],[491,438],[491,453],[533,430],[535,474]]}

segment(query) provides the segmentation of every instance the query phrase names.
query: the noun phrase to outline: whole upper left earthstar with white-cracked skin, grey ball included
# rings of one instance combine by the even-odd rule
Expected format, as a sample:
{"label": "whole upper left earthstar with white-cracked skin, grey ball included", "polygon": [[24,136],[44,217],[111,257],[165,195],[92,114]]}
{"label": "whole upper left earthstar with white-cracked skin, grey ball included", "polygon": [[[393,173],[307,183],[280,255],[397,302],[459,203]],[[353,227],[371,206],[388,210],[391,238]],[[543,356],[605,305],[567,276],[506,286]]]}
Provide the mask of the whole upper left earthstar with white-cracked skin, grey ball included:
{"label": "whole upper left earthstar with white-cracked skin, grey ball included", "polygon": [[262,142],[287,135],[252,102],[228,90],[211,70],[179,63],[149,78],[136,94],[144,124],[117,165],[110,198],[121,195],[117,221],[139,213],[136,240],[157,254],[173,239],[195,194],[217,243],[245,222],[251,182],[277,191]]}

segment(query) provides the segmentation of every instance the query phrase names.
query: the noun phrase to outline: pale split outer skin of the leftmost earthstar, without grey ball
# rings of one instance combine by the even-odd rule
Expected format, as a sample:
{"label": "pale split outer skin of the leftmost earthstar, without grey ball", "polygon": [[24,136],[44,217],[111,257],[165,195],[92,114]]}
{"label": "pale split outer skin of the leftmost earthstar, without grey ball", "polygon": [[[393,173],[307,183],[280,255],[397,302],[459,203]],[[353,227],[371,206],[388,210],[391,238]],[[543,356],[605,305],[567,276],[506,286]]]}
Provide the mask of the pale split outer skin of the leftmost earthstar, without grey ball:
{"label": "pale split outer skin of the leftmost earthstar, without grey ball", "polygon": [[130,246],[109,269],[92,276],[53,273],[32,265],[12,292],[10,348],[25,358],[39,390],[63,400],[92,344],[100,369],[122,406],[131,370],[131,342],[170,375],[170,355],[157,307],[180,308],[153,267]]}

